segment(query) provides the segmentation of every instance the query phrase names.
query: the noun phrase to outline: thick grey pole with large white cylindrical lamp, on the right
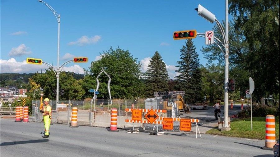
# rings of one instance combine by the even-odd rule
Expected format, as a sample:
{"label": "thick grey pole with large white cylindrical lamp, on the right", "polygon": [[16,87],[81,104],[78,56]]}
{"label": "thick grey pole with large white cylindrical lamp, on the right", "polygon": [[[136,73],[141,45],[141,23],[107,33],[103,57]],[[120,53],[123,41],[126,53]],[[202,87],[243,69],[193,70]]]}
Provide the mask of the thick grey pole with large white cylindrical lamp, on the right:
{"label": "thick grey pole with large white cylindrical lamp, on the right", "polygon": [[216,16],[212,14],[210,11],[202,7],[200,4],[198,4],[198,8],[195,8],[195,10],[198,12],[199,16],[202,16],[204,19],[208,20],[209,22],[213,23],[216,22],[219,26],[222,36],[223,36],[223,43],[225,46],[225,84],[224,84],[224,93],[225,93],[225,119],[224,119],[224,127],[221,128],[221,131],[229,131],[231,128],[228,125],[228,0],[226,0],[226,32],[224,31],[221,23],[216,19]]}

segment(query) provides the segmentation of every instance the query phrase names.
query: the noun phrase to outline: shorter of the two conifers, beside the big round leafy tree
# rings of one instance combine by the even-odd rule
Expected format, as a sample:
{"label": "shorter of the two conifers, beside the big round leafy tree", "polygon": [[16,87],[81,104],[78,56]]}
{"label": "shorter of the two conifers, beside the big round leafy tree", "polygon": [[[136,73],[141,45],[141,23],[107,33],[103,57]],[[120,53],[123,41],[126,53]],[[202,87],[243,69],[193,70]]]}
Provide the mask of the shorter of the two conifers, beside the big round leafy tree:
{"label": "shorter of the two conifers, beside the big round leafy tree", "polygon": [[165,63],[156,51],[146,72],[146,96],[154,97],[154,92],[168,91],[168,81]]}

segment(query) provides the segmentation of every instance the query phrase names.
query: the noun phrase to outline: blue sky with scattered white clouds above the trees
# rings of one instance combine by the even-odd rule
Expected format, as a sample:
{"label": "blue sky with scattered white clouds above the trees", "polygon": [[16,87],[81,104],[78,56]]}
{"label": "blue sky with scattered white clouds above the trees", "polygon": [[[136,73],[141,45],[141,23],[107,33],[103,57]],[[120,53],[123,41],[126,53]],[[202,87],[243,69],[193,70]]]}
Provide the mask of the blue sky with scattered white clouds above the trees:
{"label": "blue sky with scattered white clouds above the trees", "polygon": [[[213,29],[198,15],[198,4],[225,20],[224,0],[44,0],[60,15],[59,57],[58,19],[37,0],[0,0],[0,74],[44,72],[47,65],[27,64],[26,58],[39,58],[57,68],[74,57],[88,57],[87,63],[70,62],[63,71],[84,74],[100,53],[112,47],[128,50],[146,72],[158,51],[169,77],[176,75],[176,62],[186,40],[174,40],[173,33]],[[231,16],[229,15],[229,20]],[[214,32],[215,34],[215,32]],[[205,38],[193,39],[199,62],[207,63],[200,51]],[[110,74],[109,74],[110,75]]]}

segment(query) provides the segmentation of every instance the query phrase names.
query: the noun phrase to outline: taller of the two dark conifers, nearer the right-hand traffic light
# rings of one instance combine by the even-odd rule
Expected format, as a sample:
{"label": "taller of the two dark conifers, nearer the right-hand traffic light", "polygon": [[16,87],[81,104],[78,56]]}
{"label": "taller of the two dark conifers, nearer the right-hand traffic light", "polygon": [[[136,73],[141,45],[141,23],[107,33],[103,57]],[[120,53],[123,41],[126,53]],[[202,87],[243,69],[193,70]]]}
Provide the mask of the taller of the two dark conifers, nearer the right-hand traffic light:
{"label": "taller of the two dark conifers, nearer the right-hand traffic light", "polygon": [[200,100],[201,92],[201,72],[198,54],[195,51],[194,42],[191,39],[187,39],[180,50],[180,61],[176,62],[179,69],[176,72],[179,73],[176,76],[175,88],[180,91],[185,91],[185,103],[194,103]]}

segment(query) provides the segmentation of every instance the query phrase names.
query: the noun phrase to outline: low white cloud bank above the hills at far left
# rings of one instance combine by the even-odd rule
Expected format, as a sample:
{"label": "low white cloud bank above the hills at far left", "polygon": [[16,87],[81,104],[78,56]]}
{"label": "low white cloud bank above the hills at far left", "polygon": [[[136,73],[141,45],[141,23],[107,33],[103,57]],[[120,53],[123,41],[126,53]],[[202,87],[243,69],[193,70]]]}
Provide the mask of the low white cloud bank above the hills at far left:
{"label": "low white cloud bank above the hills at far left", "polygon": [[[36,65],[36,64],[28,64],[26,60],[22,62],[17,62],[14,58],[9,60],[0,59],[0,73],[36,73],[36,72],[46,72],[46,69],[49,69],[47,65]],[[63,71],[74,72],[76,74],[84,74],[84,70],[79,65],[73,65],[70,67],[64,67]]]}

